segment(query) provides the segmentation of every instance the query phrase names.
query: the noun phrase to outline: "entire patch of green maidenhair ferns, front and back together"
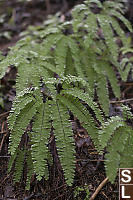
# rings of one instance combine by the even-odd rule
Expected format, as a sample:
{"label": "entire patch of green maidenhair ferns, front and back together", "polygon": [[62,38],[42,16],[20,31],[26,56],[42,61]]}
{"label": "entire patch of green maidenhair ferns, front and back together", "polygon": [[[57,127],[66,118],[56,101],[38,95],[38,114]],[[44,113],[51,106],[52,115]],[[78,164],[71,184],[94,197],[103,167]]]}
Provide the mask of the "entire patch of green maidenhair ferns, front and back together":
{"label": "entire patch of green maidenhair ferns, front and back together", "polygon": [[[114,96],[120,98],[116,71],[125,81],[131,69],[128,65],[125,73],[127,58],[118,62],[121,48],[117,39],[123,48],[128,48],[119,21],[132,31],[123,16],[122,3],[87,0],[75,6],[71,21],[59,22],[57,27],[44,26],[44,30],[21,39],[5,58],[1,57],[0,78],[8,66],[17,68],[16,98],[8,117],[9,170],[15,162],[14,179],[19,181],[22,163],[26,163],[27,188],[33,173],[38,180],[48,179],[51,133],[66,182],[72,184],[75,145],[70,111],[87,130],[96,148],[100,152],[107,149],[106,172],[112,182],[117,168],[125,165],[125,152],[130,155],[132,149],[132,129],[127,124],[132,114],[123,106],[122,117],[109,118],[108,84]],[[95,94],[98,103],[94,102]],[[25,134],[28,145],[20,148]],[[132,166],[131,159],[128,164]]]}

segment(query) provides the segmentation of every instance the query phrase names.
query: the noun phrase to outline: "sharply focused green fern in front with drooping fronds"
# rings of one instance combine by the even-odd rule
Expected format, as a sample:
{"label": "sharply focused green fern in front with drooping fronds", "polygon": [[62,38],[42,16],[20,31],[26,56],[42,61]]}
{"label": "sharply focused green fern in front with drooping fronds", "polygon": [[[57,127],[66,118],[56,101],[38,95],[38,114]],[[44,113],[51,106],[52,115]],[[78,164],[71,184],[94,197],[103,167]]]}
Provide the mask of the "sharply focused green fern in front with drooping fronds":
{"label": "sharply focused green fern in front with drooping fronds", "polygon": [[[83,90],[83,86],[87,87],[84,80],[74,76],[63,77],[60,80],[48,78],[45,80],[43,88],[26,89],[23,92],[18,93],[18,96],[16,96],[16,100],[14,101],[8,119],[9,129],[12,131],[10,135],[9,152],[12,157],[15,155],[22,135],[25,133],[28,125],[32,122],[32,131],[28,132],[28,135],[31,140],[33,169],[38,180],[43,176],[45,179],[48,178],[48,142],[51,128],[53,127],[58,155],[64,170],[66,182],[68,185],[72,184],[75,168],[75,151],[72,125],[69,120],[69,110],[77,115],[79,119],[83,120],[83,126],[88,132],[92,132],[92,139],[94,139],[94,142],[98,145],[98,141],[96,142],[96,124],[91,114],[89,114],[89,110],[82,105],[80,100],[84,101],[86,105],[94,111],[99,122],[103,121],[102,114],[96,103],[93,102],[91,96],[88,98],[86,93],[77,88],[77,81],[80,83],[79,85],[81,85],[79,88],[80,90]],[[59,82],[62,84],[62,91],[60,92],[58,91]],[[72,85],[72,83],[75,83],[75,86]],[[69,85],[68,88],[70,90],[66,89],[66,85]],[[67,105],[64,101],[64,95],[68,96]],[[74,102],[75,97],[77,98],[77,103],[72,104],[71,101]],[[88,124],[86,124],[86,122]],[[17,133],[17,130],[19,131],[19,134]],[[11,165],[12,164],[13,161]],[[18,178],[16,180],[18,181]]]}

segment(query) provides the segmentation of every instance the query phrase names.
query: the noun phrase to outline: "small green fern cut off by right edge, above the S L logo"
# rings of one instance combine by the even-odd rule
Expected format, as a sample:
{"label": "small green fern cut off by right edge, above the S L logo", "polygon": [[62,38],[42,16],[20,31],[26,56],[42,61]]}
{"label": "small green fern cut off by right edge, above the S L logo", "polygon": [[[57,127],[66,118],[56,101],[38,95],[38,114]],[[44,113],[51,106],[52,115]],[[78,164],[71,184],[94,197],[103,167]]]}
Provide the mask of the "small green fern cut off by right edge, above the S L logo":
{"label": "small green fern cut off by right edge, above the S L logo", "polygon": [[[107,149],[105,155],[106,174],[113,183],[118,172],[118,168],[132,167],[132,133],[133,129],[127,125],[127,118],[132,118],[129,107],[122,106],[121,117],[112,117],[108,122],[103,123],[99,130],[99,150]],[[130,158],[129,158],[130,156]]]}

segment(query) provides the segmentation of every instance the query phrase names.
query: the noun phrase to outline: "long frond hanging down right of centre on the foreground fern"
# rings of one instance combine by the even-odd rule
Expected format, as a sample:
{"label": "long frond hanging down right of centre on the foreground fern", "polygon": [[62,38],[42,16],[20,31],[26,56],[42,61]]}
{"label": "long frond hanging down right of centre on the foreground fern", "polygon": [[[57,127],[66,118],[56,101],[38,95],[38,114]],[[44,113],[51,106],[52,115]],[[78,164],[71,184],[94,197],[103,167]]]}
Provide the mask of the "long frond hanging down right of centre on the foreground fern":
{"label": "long frond hanging down right of centre on the foreground fern", "polygon": [[75,168],[75,147],[68,110],[64,104],[56,100],[51,104],[51,112],[58,155],[64,170],[66,182],[68,185],[71,185]]}

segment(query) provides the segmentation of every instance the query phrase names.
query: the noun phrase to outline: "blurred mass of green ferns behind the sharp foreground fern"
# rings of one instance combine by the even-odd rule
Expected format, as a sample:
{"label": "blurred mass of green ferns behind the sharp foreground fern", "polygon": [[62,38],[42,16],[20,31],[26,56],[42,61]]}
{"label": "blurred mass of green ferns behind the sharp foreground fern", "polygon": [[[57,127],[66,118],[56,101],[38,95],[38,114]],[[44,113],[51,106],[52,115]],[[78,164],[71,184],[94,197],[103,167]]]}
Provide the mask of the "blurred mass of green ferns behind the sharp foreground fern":
{"label": "blurred mass of green ferns behind the sharp foreground fern", "polygon": [[[101,107],[108,115],[108,81],[114,95],[120,97],[112,67],[117,68],[124,80],[131,68],[131,65],[126,68],[125,75],[118,63],[117,38],[119,37],[124,46],[127,46],[127,38],[117,19],[126,24],[129,31],[132,28],[121,9],[118,9],[122,8],[122,4],[118,4],[118,7],[115,5],[117,3],[110,1],[103,4],[99,1],[85,1],[73,9],[73,19],[69,23],[59,23],[58,28],[53,25],[45,31],[41,29],[36,39],[22,39],[1,62],[0,77],[4,75],[8,65],[15,65],[18,68],[16,87],[21,91],[30,85],[38,85],[42,68],[47,69],[44,75],[49,77],[54,72],[59,76],[69,73],[80,76],[89,82],[92,91],[96,87]],[[99,11],[95,13],[97,7]],[[37,43],[38,40],[41,45]],[[17,51],[19,53],[16,54]],[[101,99],[101,91],[104,91],[104,99]]]}

